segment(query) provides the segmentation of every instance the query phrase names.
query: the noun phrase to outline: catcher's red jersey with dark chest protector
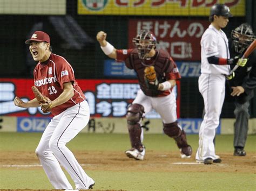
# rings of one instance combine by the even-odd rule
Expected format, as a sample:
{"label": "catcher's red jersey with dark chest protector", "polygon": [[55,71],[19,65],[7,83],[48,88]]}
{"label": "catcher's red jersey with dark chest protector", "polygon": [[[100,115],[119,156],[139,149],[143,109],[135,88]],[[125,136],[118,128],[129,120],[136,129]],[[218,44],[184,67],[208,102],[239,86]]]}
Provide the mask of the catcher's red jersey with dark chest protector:
{"label": "catcher's red jersey with dark chest protector", "polygon": [[[160,59],[157,58],[156,55],[161,56],[161,60],[170,60],[170,65],[168,65],[167,67],[160,69],[159,67],[156,68],[156,66],[161,66],[160,63]],[[139,80],[139,85],[140,88],[143,90],[144,94],[149,95],[149,96],[156,96],[156,97],[163,97],[163,96],[167,96],[171,93],[171,90],[165,90],[165,91],[158,91],[158,93],[156,95],[152,95],[151,91],[149,89],[146,88],[146,83],[144,80],[144,69],[146,66],[155,66],[156,69],[156,73],[157,73],[157,77],[159,82],[163,82],[160,81],[161,76],[164,76],[164,79],[167,80],[178,80],[181,78],[180,74],[179,74],[179,70],[178,67],[176,65],[176,63],[172,60],[171,56],[164,50],[156,50],[156,55],[153,56],[152,58],[149,59],[145,59],[144,63],[142,63],[142,60],[138,58],[138,51],[137,49],[118,49],[117,50],[117,61],[125,61],[125,65],[127,68],[129,69],[134,69],[135,72],[137,73],[138,76],[138,80]],[[129,61],[127,61],[129,60]],[[133,62],[133,64],[131,64],[131,62]]]}

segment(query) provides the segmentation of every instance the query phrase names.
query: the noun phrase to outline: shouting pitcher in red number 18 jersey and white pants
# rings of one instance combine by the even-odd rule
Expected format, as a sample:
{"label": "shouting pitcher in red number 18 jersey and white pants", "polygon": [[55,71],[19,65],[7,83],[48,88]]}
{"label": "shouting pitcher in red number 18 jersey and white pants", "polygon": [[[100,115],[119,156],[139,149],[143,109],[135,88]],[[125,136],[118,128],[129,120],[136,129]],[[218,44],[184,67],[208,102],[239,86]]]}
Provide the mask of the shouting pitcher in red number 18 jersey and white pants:
{"label": "shouting pitcher in red number 18 jersey and white pants", "polygon": [[36,98],[23,102],[15,97],[14,104],[22,108],[40,107],[54,116],[36,148],[48,179],[55,189],[72,189],[60,165],[70,174],[76,189],[89,189],[95,184],[66,147],[89,122],[89,105],[78,86],[73,68],[62,56],[52,53],[50,37],[36,31],[25,41],[33,60],[38,61],[33,75]]}

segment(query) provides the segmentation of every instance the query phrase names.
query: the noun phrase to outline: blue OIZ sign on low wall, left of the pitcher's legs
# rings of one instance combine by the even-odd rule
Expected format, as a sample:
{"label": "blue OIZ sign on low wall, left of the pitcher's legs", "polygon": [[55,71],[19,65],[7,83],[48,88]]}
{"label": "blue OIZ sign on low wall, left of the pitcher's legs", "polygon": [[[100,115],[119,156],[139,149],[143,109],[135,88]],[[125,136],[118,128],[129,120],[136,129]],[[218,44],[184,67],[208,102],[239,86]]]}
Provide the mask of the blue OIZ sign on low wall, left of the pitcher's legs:
{"label": "blue OIZ sign on low wall, left of the pitcher's legs", "polygon": [[18,117],[17,132],[44,132],[51,117]]}

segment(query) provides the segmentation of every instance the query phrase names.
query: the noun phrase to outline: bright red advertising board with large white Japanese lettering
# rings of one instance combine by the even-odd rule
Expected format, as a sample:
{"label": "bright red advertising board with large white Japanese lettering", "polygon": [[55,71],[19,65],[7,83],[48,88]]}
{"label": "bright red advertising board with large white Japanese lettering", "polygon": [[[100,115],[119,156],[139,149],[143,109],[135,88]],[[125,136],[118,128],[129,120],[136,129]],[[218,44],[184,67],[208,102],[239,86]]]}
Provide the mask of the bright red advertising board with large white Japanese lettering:
{"label": "bright red advertising board with large white Japanese lettering", "polygon": [[[125,117],[127,106],[132,103],[139,89],[137,80],[77,80],[89,103],[91,117]],[[0,115],[5,116],[51,116],[40,108],[19,108],[14,105],[16,96],[27,102],[32,93],[33,79],[0,79]],[[179,117],[180,83],[177,81],[177,115]],[[150,118],[159,118],[151,112]]]}

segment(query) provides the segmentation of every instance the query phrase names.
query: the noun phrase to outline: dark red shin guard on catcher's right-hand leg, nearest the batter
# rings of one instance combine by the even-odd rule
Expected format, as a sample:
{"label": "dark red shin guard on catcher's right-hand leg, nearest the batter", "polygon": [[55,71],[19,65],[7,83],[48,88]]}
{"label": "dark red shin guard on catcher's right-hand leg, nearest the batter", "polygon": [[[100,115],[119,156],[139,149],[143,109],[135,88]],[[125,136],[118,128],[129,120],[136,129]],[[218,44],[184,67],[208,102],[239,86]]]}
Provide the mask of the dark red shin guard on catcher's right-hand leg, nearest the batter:
{"label": "dark red shin guard on catcher's right-hand leg, nearest the batter", "polygon": [[177,122],[164,124],[164,133],[175,140],[180,150],[181,158],[191,157],[192,147],[187,144],[186,133],[179,128]]}

